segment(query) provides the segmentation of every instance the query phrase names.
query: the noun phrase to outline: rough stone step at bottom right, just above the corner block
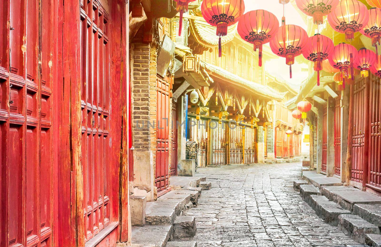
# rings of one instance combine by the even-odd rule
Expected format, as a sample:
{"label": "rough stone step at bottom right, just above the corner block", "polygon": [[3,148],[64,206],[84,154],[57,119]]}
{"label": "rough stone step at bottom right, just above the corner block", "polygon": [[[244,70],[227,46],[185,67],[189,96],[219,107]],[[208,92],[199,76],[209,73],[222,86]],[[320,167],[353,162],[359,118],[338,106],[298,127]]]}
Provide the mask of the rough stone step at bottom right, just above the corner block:
{"label": "rough stone step at bottom right, just above the corner block", "polygon": [[338,217],[338,226],[348,236],[361,244],[365,244],[365,234],[380,234],[378,226],[375,226],[359,215],[341,214]]}

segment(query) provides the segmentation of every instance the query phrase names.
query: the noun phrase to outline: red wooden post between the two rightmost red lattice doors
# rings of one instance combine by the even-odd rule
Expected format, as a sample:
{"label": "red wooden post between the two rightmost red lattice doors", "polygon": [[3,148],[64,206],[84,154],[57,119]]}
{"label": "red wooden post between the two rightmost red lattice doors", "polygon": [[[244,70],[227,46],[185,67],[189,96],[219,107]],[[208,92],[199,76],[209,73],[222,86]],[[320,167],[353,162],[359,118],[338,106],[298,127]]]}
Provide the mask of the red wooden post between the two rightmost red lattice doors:
{"label": "red wooden post between the two rightmost red lattice doors", "polygon": [[370,121],[369,121],[369,98],[370,98],[370,76],[365,79],[365,102],[364,102],[364,151],[362,159],[362,187],[365,190],[368,183],[369,166],[369,141],[370,141]]}

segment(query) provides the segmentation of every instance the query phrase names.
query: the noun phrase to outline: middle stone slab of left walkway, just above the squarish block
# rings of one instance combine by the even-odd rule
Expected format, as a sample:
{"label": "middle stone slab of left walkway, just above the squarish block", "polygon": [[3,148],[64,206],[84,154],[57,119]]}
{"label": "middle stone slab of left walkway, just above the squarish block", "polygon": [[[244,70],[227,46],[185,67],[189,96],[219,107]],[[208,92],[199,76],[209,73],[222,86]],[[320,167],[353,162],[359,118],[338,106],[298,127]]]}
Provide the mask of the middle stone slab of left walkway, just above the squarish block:
{"label": "middle stone slab of left walkway, just above the squarish block", "polygon": [[146,223],[148,225],[172,225],[176,216],[193,207],[191,195],[177,194],[176,190],[160,196],[157,201],[146,204]]}

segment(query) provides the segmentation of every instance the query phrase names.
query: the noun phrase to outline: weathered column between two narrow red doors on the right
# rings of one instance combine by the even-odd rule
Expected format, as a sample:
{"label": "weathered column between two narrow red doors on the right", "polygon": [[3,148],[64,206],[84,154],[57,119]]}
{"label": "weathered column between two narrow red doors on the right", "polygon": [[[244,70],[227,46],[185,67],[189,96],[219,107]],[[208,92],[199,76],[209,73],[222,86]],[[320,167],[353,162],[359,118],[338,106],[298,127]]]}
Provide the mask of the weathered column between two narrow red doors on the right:
{"label": "weathered column between two narrow red doors on the right", "polygon": [[335,174],[335,99],[327,100],[327,177]]}

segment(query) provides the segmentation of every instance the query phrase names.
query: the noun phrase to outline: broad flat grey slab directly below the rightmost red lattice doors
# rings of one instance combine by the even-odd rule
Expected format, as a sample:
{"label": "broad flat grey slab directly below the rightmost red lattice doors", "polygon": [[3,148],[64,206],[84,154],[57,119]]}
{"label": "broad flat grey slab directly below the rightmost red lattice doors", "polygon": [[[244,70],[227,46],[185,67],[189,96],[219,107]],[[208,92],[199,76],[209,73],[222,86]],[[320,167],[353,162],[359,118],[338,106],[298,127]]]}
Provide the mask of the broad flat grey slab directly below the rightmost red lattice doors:
{"label": "broad flat grey slab directly below the rightmost red lattice doors", "polygon": [[354,204],[381,204],[381,197],[351,186],[324,186],[321,194],[349,211]]}

